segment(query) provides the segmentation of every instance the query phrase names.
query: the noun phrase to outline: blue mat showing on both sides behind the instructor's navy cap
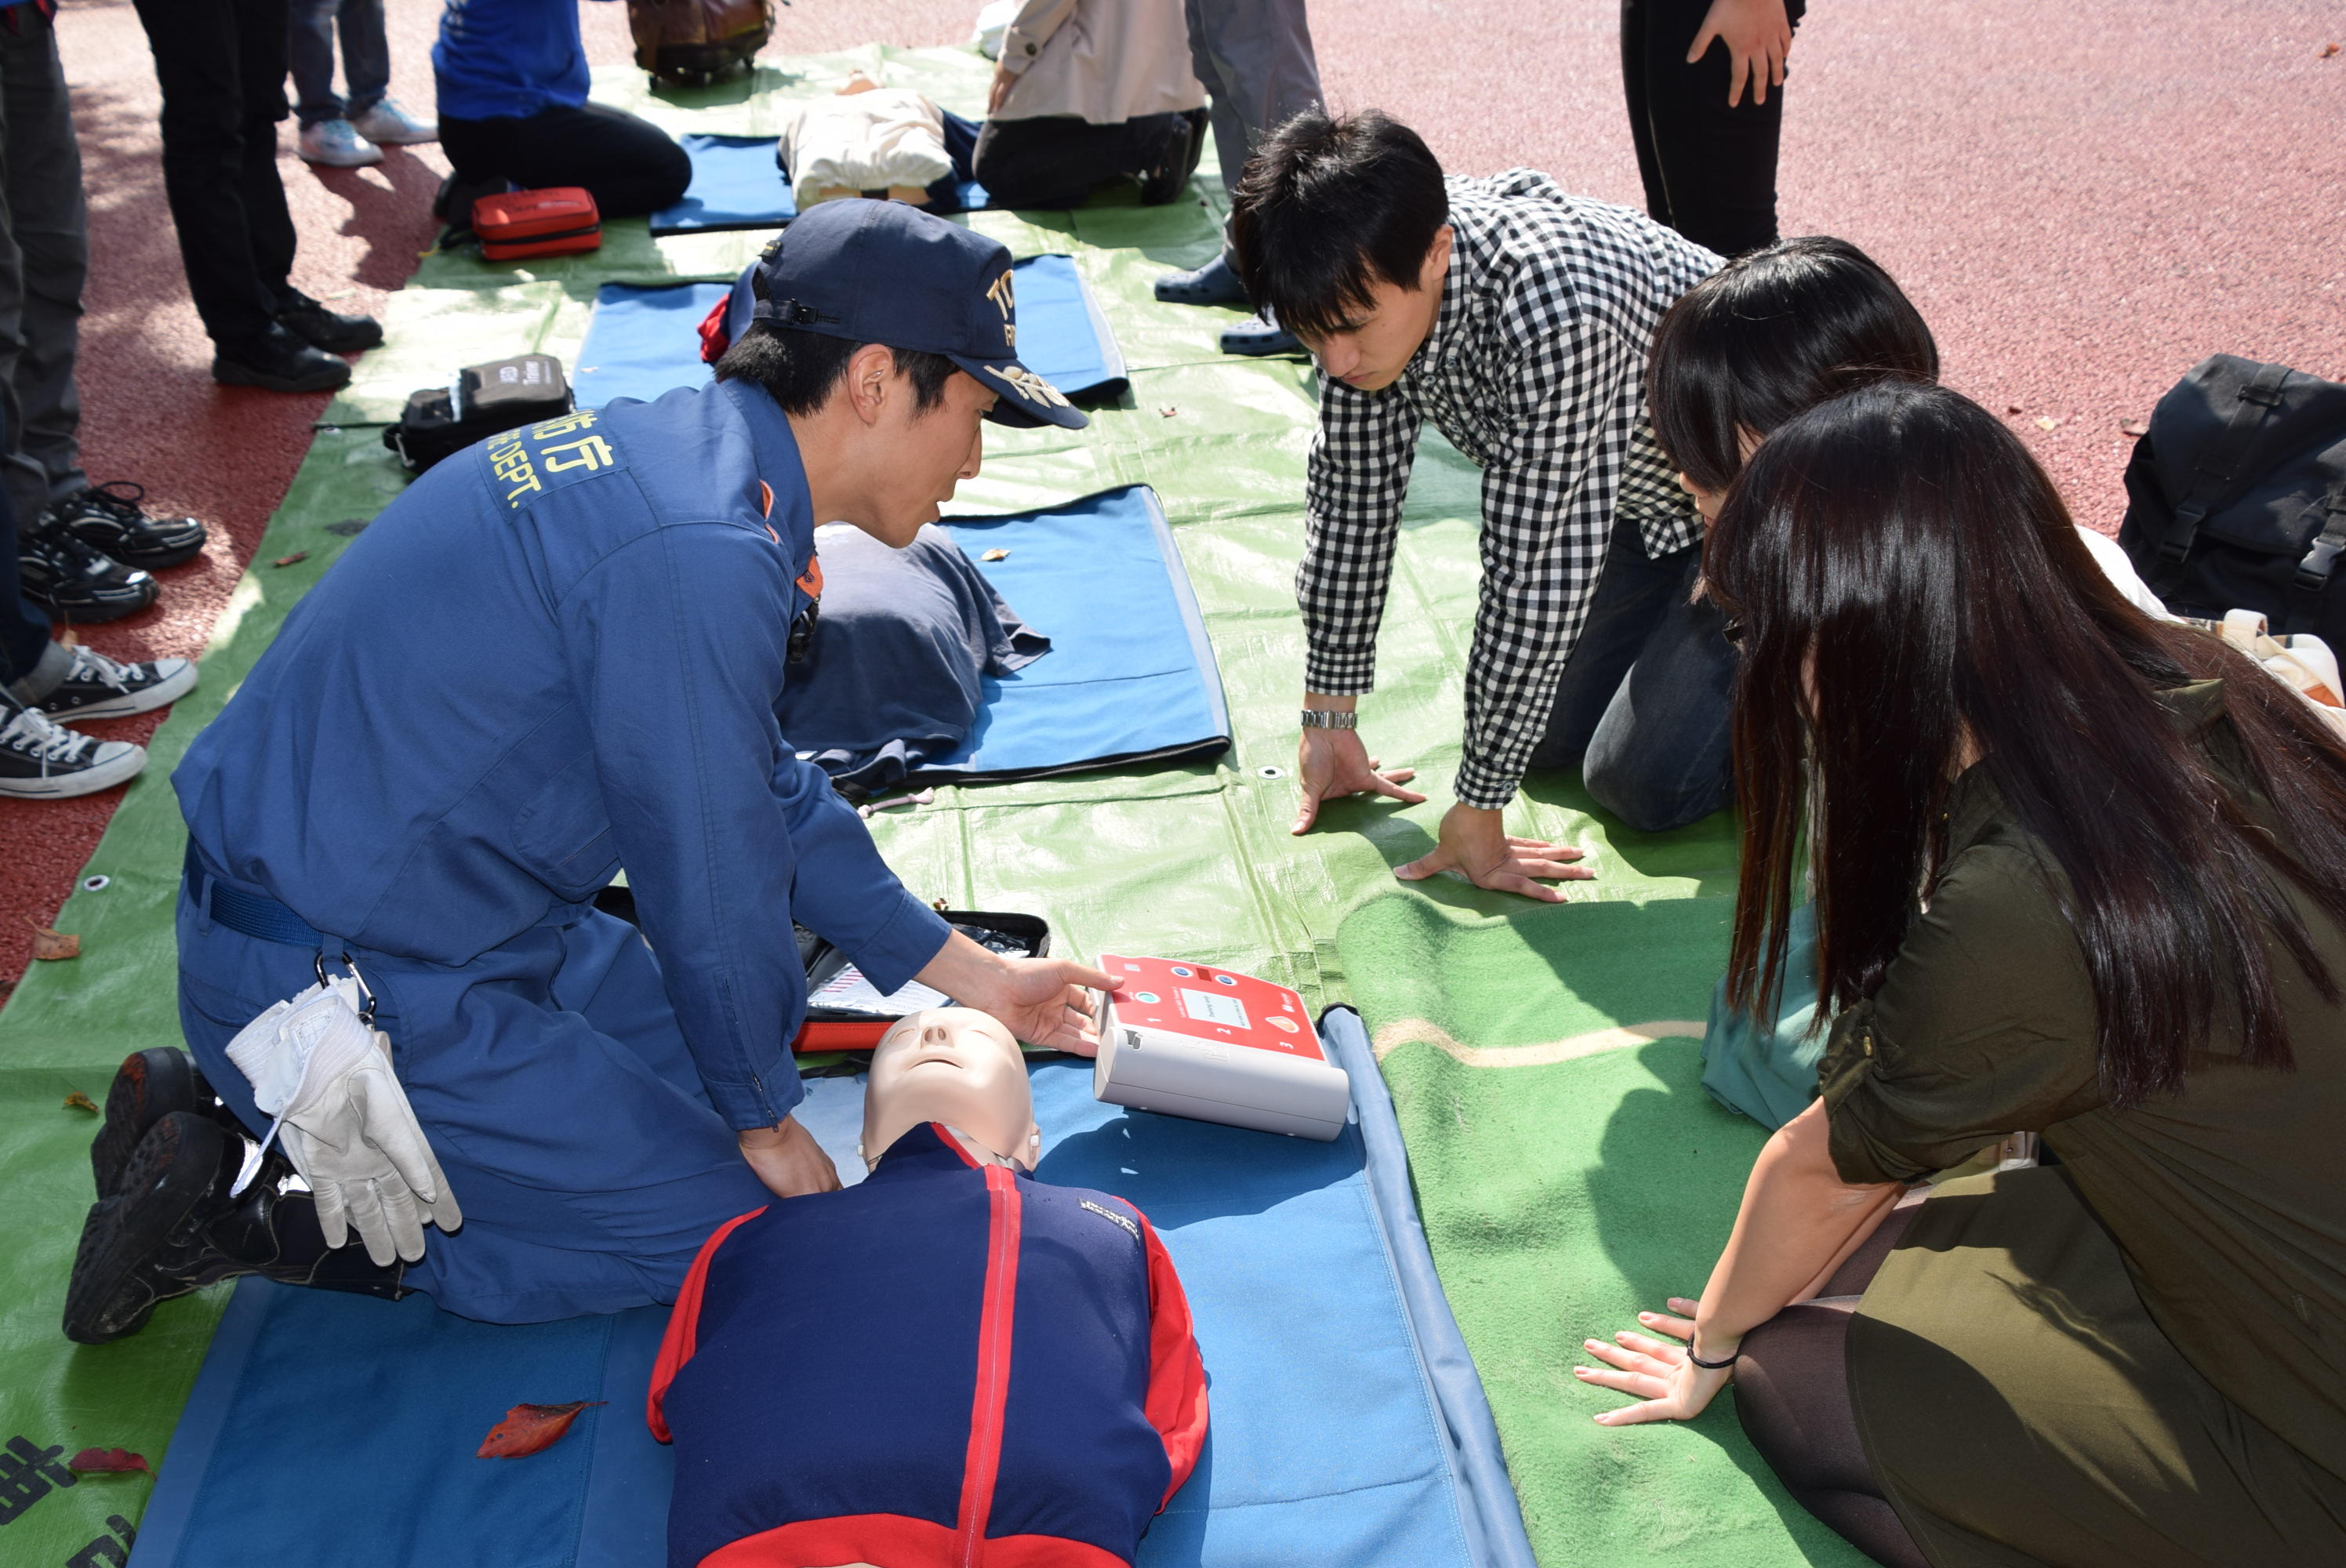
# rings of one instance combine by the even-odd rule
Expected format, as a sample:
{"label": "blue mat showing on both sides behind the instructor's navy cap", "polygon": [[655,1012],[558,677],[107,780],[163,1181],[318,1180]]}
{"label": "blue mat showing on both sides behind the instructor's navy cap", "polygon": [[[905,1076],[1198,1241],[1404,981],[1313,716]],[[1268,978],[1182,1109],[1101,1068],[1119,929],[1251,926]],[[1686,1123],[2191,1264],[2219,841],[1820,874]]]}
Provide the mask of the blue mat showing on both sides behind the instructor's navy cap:
{"label": "blue mat showing on both sides behind the instructor's navy cap", "polygon": [[[1074,258],[1028,256],[1011,268],[1011,277],[1018,298],[1018,361],[1067,397],[1119,397],[1126,385],[1124,350]],[[734,289],[737,284],[603,284],[570,376],[577,406],[601,408],[619,397],[652,401],[676,387],[706,387],[699,326]]]}

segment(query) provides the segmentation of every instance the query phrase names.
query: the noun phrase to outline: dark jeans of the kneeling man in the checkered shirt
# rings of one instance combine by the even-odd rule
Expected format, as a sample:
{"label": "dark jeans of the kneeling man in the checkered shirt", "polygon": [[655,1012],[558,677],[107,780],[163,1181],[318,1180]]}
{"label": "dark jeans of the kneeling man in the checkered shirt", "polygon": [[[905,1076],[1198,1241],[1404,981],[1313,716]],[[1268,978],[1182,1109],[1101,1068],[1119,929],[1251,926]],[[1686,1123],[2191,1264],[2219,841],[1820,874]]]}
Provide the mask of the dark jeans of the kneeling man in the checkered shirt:
{"label": "dark jeans of the kneeling man in the checkered shirt", "polygon": [[1555,688],[1532,768],[1572,768],[1595,803],[1645,833],[1682,829],[1734,796],[1736,650],[1706,599],[1696,545],[1654,561],[1616,521],[1581,641]]}

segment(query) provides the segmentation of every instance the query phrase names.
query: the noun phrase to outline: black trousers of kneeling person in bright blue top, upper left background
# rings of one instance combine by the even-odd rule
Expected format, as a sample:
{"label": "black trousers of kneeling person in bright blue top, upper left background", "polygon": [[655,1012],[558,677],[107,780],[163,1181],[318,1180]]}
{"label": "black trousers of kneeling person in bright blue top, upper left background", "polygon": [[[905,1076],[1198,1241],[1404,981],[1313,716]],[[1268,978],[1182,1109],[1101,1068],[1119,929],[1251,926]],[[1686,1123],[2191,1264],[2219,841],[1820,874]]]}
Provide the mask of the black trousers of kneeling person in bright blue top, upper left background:
{"label": "black trousers of kneeling person in bright blue top, upper left background", "polygon": [[683,200],[692,160],[650,120],[579,103],[528,117],[450,120],[441,150],[465,185],[507,178],[523,190],[584,185],[605,218],[640,218]]}

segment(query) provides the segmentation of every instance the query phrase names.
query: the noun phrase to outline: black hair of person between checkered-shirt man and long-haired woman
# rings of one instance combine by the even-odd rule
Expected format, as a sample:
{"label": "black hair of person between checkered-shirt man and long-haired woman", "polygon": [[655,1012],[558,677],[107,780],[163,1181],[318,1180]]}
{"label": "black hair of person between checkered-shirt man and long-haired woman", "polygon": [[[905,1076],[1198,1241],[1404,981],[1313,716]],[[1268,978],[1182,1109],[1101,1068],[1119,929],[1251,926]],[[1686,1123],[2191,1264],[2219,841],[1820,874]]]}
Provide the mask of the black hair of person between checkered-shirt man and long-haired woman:
{"label": "black hair of person between checkered-shirt man and long-haired woman", "polygon": [[1687,479],[1724,493],[1743,437],[1903,376],[1938,380],[1921,312],[1865,251],[1806,235],[1738,256],[1687,289],[1654,329],[1654,439]]}

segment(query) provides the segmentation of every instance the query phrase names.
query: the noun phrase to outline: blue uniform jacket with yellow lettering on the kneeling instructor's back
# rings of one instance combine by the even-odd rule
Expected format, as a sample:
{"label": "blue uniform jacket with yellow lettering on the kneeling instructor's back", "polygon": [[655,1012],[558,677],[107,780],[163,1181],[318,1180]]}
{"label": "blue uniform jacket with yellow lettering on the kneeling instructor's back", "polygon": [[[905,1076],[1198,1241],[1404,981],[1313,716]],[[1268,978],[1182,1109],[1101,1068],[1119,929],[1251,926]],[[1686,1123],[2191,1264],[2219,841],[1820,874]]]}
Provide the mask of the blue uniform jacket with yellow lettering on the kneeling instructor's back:
{"label": "blue uniform jacket with yellow lettering on the kneeling instructor's back", "polygon": [[197,850],[331,939],[462,967],[622,866],[716,1110],[800,1099],[793,915],[882,991],[950,934],[774,718],[816,592],[748,383],[472,446],[286,617],[171,775]]}

